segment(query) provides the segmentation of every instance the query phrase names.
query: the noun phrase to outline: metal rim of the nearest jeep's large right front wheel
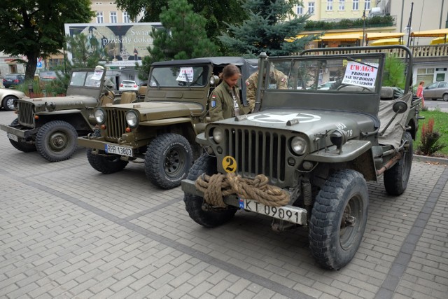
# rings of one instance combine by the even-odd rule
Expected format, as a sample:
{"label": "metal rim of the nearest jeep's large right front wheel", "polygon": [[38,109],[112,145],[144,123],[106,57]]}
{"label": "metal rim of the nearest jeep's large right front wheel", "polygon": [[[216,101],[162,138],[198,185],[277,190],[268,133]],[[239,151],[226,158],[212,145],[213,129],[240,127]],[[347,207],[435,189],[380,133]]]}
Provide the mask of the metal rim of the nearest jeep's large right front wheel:
{"label": "metal rim of the nearest jeep's large right front wheel", "polygon": [[339,228],[339,243],[344,250],[350,249],[353,239],[359,230],[363,218],[363,200],[357,194],[353,195],[347,202],[344,214],[342,214],[341,226]]}

